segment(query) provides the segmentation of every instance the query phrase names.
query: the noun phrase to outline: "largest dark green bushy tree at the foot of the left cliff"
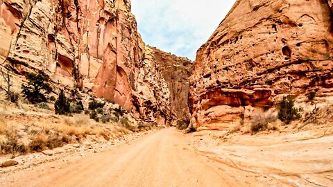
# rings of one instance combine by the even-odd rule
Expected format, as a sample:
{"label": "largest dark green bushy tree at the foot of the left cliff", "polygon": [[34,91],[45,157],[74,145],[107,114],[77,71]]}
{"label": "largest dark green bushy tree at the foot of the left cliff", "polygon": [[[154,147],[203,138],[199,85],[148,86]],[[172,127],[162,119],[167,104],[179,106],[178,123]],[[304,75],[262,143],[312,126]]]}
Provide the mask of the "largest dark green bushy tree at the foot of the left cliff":
{"label": "largest dark green bushy tree at the foot of the left cliff", "polygon": [[52,89],[49,83],[49,75],[46,75],[44,72],[39,71],[38,74],[28,73],[26,75],[28,84],[22,84],[22,93],[25,98],[30,101],[30,103],[42,103],[46,102],[44,94],[49,93]]}

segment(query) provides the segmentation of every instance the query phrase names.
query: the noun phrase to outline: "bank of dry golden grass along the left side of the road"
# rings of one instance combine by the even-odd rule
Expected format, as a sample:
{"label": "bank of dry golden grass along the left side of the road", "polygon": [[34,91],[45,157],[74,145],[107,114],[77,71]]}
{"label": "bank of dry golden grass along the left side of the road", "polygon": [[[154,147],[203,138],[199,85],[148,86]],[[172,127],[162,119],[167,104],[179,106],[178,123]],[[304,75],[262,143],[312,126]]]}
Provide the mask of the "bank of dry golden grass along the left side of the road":
{"label": "bank of dry golden grass along the left side of the road", "polygon": [[[65,100],[65,94],[62,93],[61,95],[60,98],[62,99],[60,100]],[[79,103],[81,102],[78,101],[75,104],[80,105]],[[26,104],[21,103],[21,105]],[[89,116],[85,114],[73,114],[74,117],[41,115],[41,117],[36,118],[35,115],[38,114],[36,114],[35,109],[31,110],[33,116],[29,116],[30,112],[26,114],[16,113],[16,109],[12,108],[16,108],[16,105],[1,105],[0,154],[17,155],[26,152],[40,152],[61,147],[67,143],[78,143],[85,139],[87,135],[103,136],[105,140],[110,140],[112,137],[122,136],[130,133],[130,130],[135,130],[135,127],[130,125],[128,118],[123,116],[121,123],[120,121],[118,122],[119,118],[110,114],[110,112],[105,112],[101,115],[96,114],[96,110],[92,110],[91,113],[96,115],[94,116],[94,121],[90,120]],[[42,108],[46,107],[46,105],[48,104],[36,104],[37,107]],[[27,107],[24,110],[27,112],[29,109]],[[42,111],[38,110],[38,112]],[[15,117],[11,118],[13,115]],[[117,118],[117,123],[110,123],[114,118]],[[8,119],[10,120],[9,123]],[[101,123],[96,123],[95,121]]]}

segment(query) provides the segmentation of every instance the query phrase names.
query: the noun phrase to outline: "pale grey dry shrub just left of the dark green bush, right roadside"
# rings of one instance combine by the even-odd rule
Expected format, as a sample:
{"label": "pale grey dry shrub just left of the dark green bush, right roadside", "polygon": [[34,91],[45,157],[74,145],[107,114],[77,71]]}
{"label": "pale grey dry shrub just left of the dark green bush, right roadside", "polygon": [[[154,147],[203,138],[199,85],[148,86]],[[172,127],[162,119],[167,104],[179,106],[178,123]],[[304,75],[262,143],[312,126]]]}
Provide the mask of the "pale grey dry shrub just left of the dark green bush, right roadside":
{"label": "pale grey dry shrub just left of the dark green bush, right roadside", "polygon": [[277,116],[273,112],[260,112],[253,115],[252,121],[250,121],[251,132],[259,132],[266,130],[268,123],[273,123],[277,120]]}

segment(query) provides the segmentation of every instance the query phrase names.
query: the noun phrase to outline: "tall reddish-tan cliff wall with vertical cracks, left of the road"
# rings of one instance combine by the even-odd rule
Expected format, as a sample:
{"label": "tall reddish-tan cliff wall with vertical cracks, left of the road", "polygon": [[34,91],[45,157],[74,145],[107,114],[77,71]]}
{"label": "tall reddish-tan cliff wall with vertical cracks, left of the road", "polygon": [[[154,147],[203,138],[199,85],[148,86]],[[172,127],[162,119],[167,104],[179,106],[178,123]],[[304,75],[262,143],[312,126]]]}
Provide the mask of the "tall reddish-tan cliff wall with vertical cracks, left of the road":
{"label": "tall reddish-tan cliff wall with vertical cracks, left of the road", "polygon": [[[2,66],[20,75],[46,71],[60,88],[114,101],[150,116],[153,122],[176,119],[171,116],[172,88],[159,70],[163,64],[146,50],[137,33],[130,1],[5,0],[0,4]],[[169,58],[169,64],[178,63],[177,59]]]}

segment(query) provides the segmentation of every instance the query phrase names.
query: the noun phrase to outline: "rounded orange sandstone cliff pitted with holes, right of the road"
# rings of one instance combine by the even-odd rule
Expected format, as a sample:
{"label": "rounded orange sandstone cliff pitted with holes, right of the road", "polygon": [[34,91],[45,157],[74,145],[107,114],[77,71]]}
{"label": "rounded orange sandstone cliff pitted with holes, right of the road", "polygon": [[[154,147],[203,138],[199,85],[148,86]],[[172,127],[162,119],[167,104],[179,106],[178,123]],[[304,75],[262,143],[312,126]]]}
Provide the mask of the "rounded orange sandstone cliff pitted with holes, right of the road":
{"label": "rounded orange sandstone cliff pitted with holes, right of the road", "polygon": [[332,93],[332,1],[238,0],[201,46],[191,123],[221,130],[282,94]]}

